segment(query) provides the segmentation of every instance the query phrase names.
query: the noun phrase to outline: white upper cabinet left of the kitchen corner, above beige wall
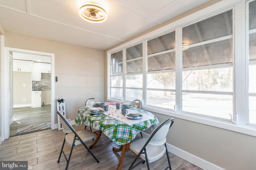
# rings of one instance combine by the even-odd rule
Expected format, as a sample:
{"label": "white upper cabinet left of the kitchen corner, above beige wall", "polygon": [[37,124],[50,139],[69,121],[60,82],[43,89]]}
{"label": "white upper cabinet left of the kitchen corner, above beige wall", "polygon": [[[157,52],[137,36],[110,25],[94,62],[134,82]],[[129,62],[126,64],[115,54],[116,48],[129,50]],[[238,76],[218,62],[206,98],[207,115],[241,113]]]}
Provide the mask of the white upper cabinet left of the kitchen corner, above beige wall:
{"label": "white upper cabinet left of the kitchen corner, above beige wall", "polygon": [[12,60],[12,70],[17,72],[32,72],[32,61]]}

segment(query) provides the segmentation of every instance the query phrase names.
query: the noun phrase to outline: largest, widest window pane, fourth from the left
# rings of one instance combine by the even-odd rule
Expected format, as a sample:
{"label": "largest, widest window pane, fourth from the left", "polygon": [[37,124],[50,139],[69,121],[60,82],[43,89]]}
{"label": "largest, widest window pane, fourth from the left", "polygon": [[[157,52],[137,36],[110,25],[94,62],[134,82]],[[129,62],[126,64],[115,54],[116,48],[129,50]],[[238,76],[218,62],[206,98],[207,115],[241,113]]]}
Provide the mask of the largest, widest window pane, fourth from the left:
{"label": "largest, widest window pane, fourth from the left", "polygon": [[182,111],[233,114],[232,10],[182,28]]}

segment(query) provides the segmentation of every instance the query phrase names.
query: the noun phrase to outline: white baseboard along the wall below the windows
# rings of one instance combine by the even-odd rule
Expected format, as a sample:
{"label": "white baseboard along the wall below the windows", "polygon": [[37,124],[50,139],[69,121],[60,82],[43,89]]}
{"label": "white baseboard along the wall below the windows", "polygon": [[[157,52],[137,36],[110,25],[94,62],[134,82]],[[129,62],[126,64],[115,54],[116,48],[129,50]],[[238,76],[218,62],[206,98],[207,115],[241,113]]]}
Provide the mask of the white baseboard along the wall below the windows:
{"label": "white baseboard along the wall below the windows", "polygon": [[[143,133],[143,136],[149,137],[147,133]],[[206,160],[203,160],[202,158],[199,158],[193,154],[190,154],[184,150],[181,150],[177,147],[174,147],[168,143],[166,143],[168,152],[190,162],[191,164],[194,164],[195,166],[198,166],[201,169],[204,170],[224,170],[223,168],[220,168],[219,166],[216,166],[210,162],[207,162]]]}

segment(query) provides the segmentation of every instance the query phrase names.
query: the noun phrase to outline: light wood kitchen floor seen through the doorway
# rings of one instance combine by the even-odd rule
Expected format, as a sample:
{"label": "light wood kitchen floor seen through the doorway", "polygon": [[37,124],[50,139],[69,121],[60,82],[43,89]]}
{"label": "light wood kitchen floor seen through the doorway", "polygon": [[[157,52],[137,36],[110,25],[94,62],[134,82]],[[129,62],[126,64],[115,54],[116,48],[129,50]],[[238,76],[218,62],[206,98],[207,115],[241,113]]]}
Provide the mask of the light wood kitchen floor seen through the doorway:
{"label": "light wood kitchen floor seen through the doorway", "polygon": [[51,121],[51,105],[42,107],[20,107],[13,109],[14,121],[10,125],[10,137],[15,136],[19,127]]}

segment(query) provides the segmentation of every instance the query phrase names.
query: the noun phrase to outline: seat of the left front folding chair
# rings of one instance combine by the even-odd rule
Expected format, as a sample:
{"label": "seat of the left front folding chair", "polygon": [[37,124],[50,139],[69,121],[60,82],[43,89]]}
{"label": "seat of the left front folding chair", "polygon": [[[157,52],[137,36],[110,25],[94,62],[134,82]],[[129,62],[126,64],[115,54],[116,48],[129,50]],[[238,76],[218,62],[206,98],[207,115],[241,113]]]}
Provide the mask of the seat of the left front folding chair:
{"label": "seat of the left front folding chair", "polygon": [[[81,131],[76,131],[77,135],[82,139],[83,142],[89,141],[94,138],[94,133],[90,130],[81,130]],[[66,142],[68,143],[69,146],[72,146],[72,143],[74,141],[75,134],[74,133],[68,133],[66,135]],[[79,140],[76,140],[74,145],[79,145],[81,142]]]}

